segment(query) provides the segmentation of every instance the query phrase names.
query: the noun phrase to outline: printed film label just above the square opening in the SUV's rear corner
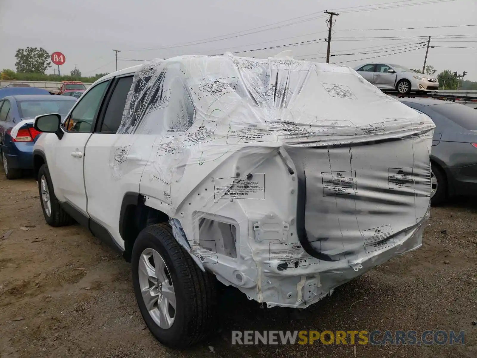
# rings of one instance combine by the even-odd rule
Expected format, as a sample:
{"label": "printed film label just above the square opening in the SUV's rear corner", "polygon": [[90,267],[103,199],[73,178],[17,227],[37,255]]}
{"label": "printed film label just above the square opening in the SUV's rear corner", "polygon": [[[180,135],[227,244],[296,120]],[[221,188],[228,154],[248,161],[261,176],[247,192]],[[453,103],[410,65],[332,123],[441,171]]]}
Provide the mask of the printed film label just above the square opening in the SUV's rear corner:
{"label": "printed film label just above the square opening in the SUV's rear corner", "polygon": [[265,174],[214,179],[215,202],[219,199],[265,199]]}

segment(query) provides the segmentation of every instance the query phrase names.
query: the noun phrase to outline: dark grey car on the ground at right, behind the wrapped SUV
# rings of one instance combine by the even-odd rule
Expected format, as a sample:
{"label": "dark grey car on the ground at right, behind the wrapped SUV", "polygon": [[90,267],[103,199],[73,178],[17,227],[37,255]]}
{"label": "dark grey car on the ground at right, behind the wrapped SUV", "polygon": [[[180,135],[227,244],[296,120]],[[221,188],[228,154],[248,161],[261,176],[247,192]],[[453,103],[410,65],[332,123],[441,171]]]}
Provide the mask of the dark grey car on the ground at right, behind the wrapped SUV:
{"label": "dark grey car on the ground at right, behind the wrapped SUV", "polygon": [[436,124],[431,150],[431,202],[477,195],[477,111],[429,98],[405,98],[401,102],[430,116]]}

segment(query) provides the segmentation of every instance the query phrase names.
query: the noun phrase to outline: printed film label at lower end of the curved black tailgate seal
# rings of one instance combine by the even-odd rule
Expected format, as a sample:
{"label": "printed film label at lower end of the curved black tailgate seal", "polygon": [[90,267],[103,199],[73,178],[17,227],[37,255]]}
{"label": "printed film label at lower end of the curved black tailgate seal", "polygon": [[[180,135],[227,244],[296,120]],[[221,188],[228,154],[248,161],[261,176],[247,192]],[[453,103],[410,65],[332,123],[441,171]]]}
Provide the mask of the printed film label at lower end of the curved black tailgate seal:
{"label": "printed film label at lower end of the curved black tailgate seal", "polygon": [[300,243],[269,243],[269,266],[287,265],[288,268],[320,263],[301,247]]}

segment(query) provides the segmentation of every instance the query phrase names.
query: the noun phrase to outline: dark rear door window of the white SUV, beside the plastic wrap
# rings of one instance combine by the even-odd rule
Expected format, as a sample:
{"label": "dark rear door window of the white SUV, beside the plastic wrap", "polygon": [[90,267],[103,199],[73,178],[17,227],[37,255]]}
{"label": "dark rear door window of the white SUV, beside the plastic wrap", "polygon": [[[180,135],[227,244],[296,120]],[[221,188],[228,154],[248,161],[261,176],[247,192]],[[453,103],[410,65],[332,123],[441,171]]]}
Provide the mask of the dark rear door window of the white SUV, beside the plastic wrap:
{"label": "dark rear door window of the white SUV, beside the plastic wrap", "polygon": [[116,133],[123,117],[126,97],[133,84],[133,76],[121,77],[114,86],[113,93],[104,112],[100,132]]}

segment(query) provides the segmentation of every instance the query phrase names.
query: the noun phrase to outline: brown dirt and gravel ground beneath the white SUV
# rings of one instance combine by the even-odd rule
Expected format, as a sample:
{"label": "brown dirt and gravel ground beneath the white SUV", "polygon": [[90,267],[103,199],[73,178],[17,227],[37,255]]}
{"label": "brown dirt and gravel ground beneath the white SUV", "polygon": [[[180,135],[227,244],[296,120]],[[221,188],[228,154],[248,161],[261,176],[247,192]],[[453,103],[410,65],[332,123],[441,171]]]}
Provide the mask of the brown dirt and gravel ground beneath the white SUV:
{"label": "brown dirt and gravel ground beneath the white SUV", "polygon": [[[79,225],[46,225],[34,179],[4,178],[1,173],[0,237],[14,231],[0,239],[1,358],[477,357],[475,199],[433,208],[421,249],[341,286],[302,311],[302,319],[287,309],[260,308],[239,291],[226,290],[217,332],[189,350],[173,351],[146,329],[129,264]],[[266,329],[465,330],[466,345],[366,345],[354,351],[321,343],[230,343],[232,330]]]}

